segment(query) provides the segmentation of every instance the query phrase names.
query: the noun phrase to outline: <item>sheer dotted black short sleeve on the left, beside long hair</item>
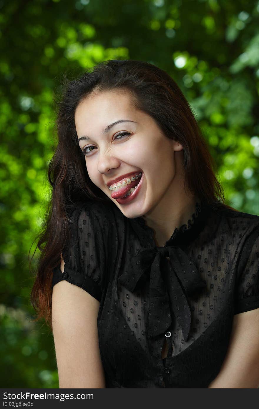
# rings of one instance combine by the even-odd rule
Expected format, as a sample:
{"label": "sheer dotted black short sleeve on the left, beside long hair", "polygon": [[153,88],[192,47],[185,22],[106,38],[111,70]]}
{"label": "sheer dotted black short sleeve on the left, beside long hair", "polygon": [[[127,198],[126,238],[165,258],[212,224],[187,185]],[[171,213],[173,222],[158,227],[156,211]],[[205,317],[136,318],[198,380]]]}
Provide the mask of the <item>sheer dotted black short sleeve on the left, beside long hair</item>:
{"label": "sheer dotted black short sleeve on the left, beside long hair", "polygon": [[106,273],[105,215],[95,203],[80,204],[72,213],[71,238],[62,252],[64,272],[53,269],[52,288],[66,280],[101,301]]}

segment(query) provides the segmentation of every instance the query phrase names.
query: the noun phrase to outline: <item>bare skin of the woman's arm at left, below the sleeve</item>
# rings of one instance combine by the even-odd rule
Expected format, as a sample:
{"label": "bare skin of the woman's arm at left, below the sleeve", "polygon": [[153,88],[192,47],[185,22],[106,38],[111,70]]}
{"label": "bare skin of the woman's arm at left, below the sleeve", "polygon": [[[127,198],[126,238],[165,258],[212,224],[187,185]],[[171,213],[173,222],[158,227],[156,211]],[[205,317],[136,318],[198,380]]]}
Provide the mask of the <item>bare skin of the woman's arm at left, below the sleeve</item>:
{"label": "bare skin of the woman's arm at left, below the sleeve", "polygon": [[52,326],[60,388],[105,388],[97,330],[99,305],[68,281],[53,287]]}

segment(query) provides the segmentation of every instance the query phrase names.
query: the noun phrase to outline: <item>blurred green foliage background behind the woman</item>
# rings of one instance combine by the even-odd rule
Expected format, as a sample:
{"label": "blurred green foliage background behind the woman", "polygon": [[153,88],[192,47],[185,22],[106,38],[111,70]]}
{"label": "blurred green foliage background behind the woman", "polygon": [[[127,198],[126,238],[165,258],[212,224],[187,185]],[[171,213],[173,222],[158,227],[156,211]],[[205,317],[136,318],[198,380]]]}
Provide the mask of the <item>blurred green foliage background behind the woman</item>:
{"label": "blurred green foliage background behind the woman", "polygon": [[227,204],[259,215],[259,2],[1,0],[0,42],[0,384],[54,388],[52,333],[32,322],[28,252],[50,194],[62,74],[111,58],[166,70],[203,129]]}

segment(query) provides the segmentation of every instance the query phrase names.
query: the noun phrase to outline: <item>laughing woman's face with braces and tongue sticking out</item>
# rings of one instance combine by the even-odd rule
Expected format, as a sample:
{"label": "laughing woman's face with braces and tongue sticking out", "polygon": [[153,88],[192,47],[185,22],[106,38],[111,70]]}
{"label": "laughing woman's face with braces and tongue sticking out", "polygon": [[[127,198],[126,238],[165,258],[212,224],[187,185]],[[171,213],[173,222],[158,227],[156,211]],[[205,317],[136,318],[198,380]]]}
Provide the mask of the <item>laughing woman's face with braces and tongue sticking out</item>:
{"label": "laughing woman's face with braces and tongue sticking out", "polygon": [[153,118],[133,108],[128,93],[88,97],[76,109],[75,124],[90,179],[124,216],[143,216],[172,199],[174,152],[182,146],[165,137]]}

